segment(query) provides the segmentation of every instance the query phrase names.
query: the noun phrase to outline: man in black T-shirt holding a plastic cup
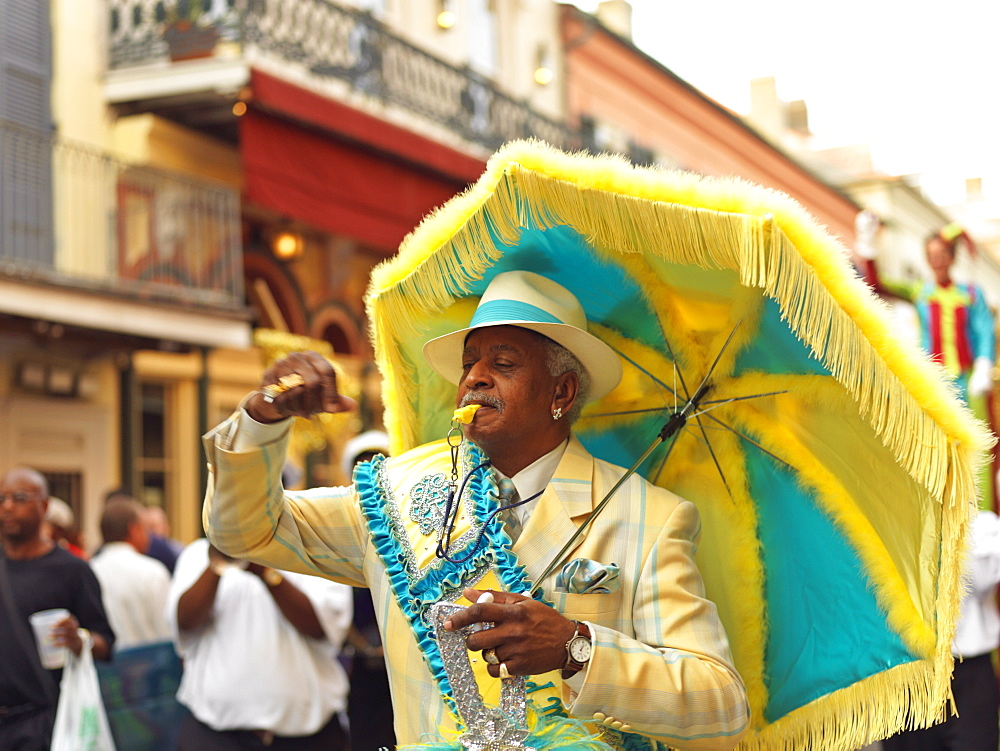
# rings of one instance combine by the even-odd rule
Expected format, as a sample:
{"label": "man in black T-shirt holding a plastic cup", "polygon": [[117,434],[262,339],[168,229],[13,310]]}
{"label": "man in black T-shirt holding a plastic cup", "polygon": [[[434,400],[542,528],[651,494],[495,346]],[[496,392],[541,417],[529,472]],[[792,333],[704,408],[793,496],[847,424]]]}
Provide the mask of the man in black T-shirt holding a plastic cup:
{"label": "man in black T-shirt holding a plastic cup", "polygon": [[[83,649],[79,628],[89,629],[93,654],[106,660],[114,634],[97,578],[84,561],[55,545],[42,531],[48,483],[33,469],[12,469],[0,479],[0,748],[47,751],[61,670],[44,670],[28,617],[51,608],[70,615],[53,629],[53,641],[74,654]],[[10,666],[10,669],[8,669]]]}

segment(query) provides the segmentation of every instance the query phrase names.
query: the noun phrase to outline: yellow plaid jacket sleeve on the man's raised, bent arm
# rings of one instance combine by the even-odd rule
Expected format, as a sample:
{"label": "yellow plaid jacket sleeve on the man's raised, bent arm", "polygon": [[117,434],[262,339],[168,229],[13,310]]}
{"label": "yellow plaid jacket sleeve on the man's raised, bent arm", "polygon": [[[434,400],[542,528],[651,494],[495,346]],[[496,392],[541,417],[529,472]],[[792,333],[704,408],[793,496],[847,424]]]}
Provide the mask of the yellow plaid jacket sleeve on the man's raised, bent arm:
{"label": "yellow plaid jacket sleeve on the man's raised, bent arm", "polygon": [[366,586],[367,530],[351,487],[286,492],[281,486],[288,431],[262,446],[233,451],[237,413],[203,438],[209,465],[202,512],[219,550],[284,571]]}

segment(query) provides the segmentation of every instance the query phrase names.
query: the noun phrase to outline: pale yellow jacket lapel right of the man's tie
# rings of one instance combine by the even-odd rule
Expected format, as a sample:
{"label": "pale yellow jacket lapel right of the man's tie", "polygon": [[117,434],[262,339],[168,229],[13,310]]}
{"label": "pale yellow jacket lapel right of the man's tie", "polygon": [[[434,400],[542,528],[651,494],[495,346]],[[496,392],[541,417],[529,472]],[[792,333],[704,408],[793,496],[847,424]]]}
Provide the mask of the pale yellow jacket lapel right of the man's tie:
{"label": "pale yellow jacket lapel right of the man's tie", "polygon": [[[571,437],[552,480],[514,544],[514,553],[532,583],[593,510],[593,478],[594,457],[576,437]],[[582,537],[573,548],[581,542]],[[554,581],[558,572],[556,568],[548,578]],[[550,588],[551,581],[546,586]]]}

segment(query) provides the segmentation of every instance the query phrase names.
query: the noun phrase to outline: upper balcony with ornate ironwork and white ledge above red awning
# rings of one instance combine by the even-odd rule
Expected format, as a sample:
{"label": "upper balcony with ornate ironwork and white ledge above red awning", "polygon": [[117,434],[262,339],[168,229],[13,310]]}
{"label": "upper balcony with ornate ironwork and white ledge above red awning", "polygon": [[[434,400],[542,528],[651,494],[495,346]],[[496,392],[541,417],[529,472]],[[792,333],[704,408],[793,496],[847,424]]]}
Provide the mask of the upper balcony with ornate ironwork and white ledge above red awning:
{"label": "upper balcony with ornate ironwork and white ledge above red awning", "polygon": [[572,145],[563,123],[394,36],[368,13],[328,0],[204,5],[208,10],[192,14],[200,7],[193,0],[110,0],[112,101],[132,108],[126,111],[152,109],[194,127],[222,128],[257,65],[376,114],[391,108],[411,122],[415,116],[488,152],[529,136]]}

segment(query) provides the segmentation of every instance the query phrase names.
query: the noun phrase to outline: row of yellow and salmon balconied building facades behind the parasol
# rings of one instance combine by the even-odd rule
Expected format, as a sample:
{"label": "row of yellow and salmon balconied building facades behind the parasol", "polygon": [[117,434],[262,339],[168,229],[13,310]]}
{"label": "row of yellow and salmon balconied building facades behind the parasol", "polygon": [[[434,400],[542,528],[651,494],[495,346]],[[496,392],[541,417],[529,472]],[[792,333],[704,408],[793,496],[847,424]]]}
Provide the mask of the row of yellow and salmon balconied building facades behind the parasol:
{"label": "row of yellow and salmon balconied building facades behind the parasol", "polygon": [[856,205],[643,55],[623,11],[0,0],[0,470],[45,472],[91,546],[116,487],[192,539],[198,436],[313,344],[362,410],[288,477],[344,480],[338,436],[381,421],[369,272],[514,138],[739,175],[850,232]]}

